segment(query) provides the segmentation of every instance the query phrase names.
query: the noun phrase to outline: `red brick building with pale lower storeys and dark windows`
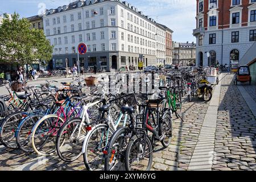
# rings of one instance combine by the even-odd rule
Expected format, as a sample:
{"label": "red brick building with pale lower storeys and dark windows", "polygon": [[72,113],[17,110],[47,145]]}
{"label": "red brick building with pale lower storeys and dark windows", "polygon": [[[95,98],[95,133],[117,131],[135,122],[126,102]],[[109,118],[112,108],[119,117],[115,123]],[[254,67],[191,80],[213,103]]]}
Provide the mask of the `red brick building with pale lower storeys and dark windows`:
{"label": "red brick building with pale lower storeys and dark windows", "polygon": [[197,65],[238,64],[256,41],[256,0],[197,0],[196,20]]}

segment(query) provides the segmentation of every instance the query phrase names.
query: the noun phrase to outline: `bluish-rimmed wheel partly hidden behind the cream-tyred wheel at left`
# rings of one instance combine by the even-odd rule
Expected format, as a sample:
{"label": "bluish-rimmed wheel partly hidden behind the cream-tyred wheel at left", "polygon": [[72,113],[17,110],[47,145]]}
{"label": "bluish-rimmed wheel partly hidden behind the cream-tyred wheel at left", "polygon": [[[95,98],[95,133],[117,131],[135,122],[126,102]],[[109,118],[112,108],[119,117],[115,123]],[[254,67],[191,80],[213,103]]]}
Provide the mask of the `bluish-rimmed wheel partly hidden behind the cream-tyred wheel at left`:
{"label": "bluish-rimmed wheel partly hidden behind the cream-tyred wheel at left", "polygon": [[16,143],[18,147],[24,152],[33,152],[33,147],[31,145],[31,131],[35,123],[38,122],[40,118],[44,117],[44,114],[32,114],[28,117],[22,119],[18,129],[16,130]]}

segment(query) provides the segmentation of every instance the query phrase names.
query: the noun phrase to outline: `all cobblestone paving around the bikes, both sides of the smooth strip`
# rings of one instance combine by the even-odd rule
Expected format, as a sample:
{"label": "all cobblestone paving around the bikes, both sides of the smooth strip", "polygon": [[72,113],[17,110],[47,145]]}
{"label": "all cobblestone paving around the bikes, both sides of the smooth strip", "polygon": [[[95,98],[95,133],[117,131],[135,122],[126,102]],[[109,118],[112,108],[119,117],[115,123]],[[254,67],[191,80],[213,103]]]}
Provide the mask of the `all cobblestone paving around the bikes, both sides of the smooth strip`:
{"label": "all cobblestone paving around the bikes, both sides of the smooth strip", "polygon": [[[233,75],[222,80],[218,107],[214,154],[209,156],[212,170],[256,170],[256,123],[237,86],[230,85]],[[255,86],[245,86],[255,98]],[[199,140],[209,103],[193,98],[183,105],[184,122],[174,114],[172,144],[162,148],[158,143],[154,152],[152,171],[188,170]],[[207,145],[207,144],[206,144]],[[75,163],[62,162],[57,156],[43,158],[24,154],[20,150],[6,150],[0,146],[0,170],[85,170],[82,156]]]}

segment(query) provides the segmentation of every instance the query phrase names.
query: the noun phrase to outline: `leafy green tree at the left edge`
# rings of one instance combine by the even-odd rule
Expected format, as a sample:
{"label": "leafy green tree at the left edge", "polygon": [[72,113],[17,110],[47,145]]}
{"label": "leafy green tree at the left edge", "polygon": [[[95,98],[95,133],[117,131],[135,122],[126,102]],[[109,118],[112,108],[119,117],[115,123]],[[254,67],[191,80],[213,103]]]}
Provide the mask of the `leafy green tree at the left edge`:
{"label": "leafy green tree at the left edge", "polygon": [[26,18],[19,19],[16,13],[11,19],[3,20],[0,26],[0,62],[24,65],[51,60],[53,46],[43,30],[30,29],[30,26]]}

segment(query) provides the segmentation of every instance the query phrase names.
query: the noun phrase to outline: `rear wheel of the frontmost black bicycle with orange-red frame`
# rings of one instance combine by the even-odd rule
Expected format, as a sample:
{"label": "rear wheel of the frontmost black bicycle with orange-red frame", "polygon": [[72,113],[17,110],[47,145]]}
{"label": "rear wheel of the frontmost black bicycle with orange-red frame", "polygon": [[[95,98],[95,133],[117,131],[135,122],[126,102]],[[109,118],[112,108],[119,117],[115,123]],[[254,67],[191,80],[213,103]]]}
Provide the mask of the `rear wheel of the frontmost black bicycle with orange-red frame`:
{"label": "rear wheel of the frontmost black bicycle with orange-red frame", "polygon": [[161,140],[163,147],[168,147],[171,144],[172,140],[172,119],[170,114],[165,113],[163,115],[163,122],[160,123],[159,130],[162,135],[164,134],[164,138]]}

